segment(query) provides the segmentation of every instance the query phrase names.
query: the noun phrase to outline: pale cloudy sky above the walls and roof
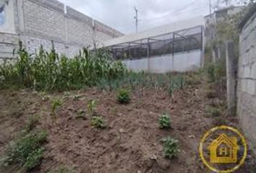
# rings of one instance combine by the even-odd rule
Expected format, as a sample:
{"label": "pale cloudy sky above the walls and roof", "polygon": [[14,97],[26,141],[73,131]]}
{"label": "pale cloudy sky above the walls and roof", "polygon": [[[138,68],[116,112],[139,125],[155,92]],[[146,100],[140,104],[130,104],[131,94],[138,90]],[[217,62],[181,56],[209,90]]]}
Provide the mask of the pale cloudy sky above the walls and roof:
{"label": "pale cloudy sky above the walls and roof", "polygon": [[[121,32],[135,32],[135,9],[138,30],[165,25],[179,19],[209,14],[209,0],[59,0],[78,11]],[[218,0],[211,0],[213,4]],[[221,0],[219,0],[221,1]]]}

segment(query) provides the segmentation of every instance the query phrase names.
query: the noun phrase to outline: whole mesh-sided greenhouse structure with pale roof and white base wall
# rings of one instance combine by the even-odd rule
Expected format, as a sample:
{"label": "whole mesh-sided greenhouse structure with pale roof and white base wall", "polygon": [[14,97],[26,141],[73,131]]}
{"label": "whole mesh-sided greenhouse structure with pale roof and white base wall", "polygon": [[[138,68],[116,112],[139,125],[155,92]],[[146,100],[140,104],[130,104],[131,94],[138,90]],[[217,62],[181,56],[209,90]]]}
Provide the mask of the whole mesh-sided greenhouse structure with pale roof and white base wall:
{"label": "whole mesh-sided greenhouse structure with pale roof and white base wall", "polygon": [[116,60],[135,71],[195,71],[203,63],[204,19],[195,17],[124,35],[103,43]]}

